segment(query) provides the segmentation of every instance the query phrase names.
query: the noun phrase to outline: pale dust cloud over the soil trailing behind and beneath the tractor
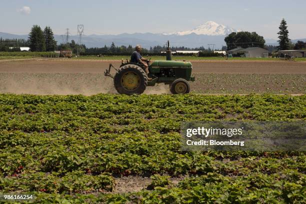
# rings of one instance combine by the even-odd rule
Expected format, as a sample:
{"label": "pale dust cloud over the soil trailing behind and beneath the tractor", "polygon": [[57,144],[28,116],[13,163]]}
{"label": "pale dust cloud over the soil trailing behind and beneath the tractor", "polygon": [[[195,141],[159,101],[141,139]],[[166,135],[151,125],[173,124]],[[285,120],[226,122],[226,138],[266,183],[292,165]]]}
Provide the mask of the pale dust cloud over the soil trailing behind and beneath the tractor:
{"label": "pale dust cloud over the soil trailing behind and beneath the tractor", "polygon": [[[0,92],[67,95],[117,93],[113,79],[102,73],[0,73]],[[170,93],[168,85],[148,86],[145,94]]]}

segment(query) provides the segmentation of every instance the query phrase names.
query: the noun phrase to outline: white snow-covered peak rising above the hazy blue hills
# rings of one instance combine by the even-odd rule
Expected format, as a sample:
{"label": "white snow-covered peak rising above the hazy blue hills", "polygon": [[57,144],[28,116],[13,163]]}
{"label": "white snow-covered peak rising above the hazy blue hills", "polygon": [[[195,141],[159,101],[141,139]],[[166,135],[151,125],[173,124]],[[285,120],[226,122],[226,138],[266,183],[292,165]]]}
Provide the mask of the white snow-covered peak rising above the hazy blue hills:
{"label": "white snow-covered peak rising above the hazy blue hills", "polygon": [[179,31],[179,32],[171,32],[171,33],[163,33],[165,35],[175,34],[175,35],[185,35],[185,34],[205,34],[205,35],[226,35],[231,32],[241,31],[239,29],[234,29],[222,24],[218,24],[214,21],[207,21],[204,24],[201,24],[191,30]]}

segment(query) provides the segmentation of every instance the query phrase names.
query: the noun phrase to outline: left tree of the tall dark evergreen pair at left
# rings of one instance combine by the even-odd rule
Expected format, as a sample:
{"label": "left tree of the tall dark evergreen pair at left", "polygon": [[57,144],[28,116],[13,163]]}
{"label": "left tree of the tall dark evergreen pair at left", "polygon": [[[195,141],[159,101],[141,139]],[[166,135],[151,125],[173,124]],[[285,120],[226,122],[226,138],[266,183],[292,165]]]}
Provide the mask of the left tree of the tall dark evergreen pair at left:
{"label": "left tree of the tall dark evergreen pair at left", "polygon": [[44,36],[39,25],[33,25],[28,35],[30,51],[45,51]]}

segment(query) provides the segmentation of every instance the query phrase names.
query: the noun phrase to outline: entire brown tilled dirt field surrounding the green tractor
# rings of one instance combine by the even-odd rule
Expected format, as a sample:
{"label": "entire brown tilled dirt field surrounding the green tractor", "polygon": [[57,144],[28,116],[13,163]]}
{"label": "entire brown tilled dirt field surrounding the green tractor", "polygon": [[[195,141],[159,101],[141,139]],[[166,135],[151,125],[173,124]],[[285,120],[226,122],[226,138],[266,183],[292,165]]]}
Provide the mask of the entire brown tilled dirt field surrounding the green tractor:
{"label": "entire brown tilled dirt field surrounding the green tractor", "polygon": [[[198,93],[305,93],[306,61],[191,61]],[[0,92],[31,94],[116,93],[103,71],[119,60],[0,60]],[[169,93],[168,85],[144,93]]]}

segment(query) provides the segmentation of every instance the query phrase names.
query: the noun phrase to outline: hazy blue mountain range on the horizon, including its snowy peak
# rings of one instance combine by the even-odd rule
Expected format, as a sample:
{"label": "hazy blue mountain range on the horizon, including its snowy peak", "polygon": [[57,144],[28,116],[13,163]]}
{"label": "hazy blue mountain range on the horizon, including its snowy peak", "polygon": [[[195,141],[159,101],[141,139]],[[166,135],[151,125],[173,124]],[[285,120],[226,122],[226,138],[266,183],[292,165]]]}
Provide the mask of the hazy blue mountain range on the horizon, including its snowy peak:
{"label": "hazy blue mountain range on the horizon, including its snowy peak", "polygon": [[[171,46],[185,46],[185,47],[200,47],[204,46],[208,48],[207,44],[214,44],[214,48],[221,48],[222,45],[226,45],[224,37],[231,32],[241,31],[240,29],[234,29],[222,24],[218,24],[213,21],[207,21],[193,29],[185,31],[176,31],[171,33],[121,33],[121,34],[104,34],[104,35],[85,35],[82,37],[82,43],[86,47],[103,47],[105,44],[109,46],[111,42],[115,45],[125,45],[129,44],[135,46],[136,44],[141,44],[142,47],[150,48],[150,46],[164,45],[167,40],[170,41]],[[0,32],[0,37],[2,38],[24,38],[26,39],[28,35],[16,35],[5,32]],[[60,35],[54,35],[55,40],[61,42]],[[69,40],[75,40],[77,42],[77,35],[69,36]],[[297,40],[306,41],[304,39],[292,40],[296,42]],[[275,39],[266,39],[266,44],[277,45],[278,42]],[[212,47],[212,46],[211,46]]]}

